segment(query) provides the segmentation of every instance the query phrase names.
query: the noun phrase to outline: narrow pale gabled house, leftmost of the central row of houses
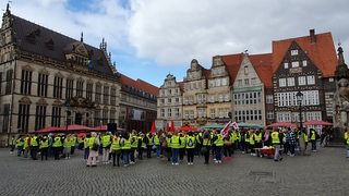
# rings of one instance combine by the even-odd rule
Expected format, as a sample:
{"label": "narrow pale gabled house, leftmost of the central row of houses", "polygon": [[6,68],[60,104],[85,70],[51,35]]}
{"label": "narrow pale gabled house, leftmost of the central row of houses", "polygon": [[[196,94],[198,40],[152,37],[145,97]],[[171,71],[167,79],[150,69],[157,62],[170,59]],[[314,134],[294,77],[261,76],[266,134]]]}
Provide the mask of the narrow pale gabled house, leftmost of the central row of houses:
{"label": "narrow pale gabled house, leftmost of the central row of houses", "polygon": [[172,74],[168,74],[160,86],[157,99],[156,127],[165,130],[166,124],[174,123],[174,127],[183,125],[183,83],[177,82]]}

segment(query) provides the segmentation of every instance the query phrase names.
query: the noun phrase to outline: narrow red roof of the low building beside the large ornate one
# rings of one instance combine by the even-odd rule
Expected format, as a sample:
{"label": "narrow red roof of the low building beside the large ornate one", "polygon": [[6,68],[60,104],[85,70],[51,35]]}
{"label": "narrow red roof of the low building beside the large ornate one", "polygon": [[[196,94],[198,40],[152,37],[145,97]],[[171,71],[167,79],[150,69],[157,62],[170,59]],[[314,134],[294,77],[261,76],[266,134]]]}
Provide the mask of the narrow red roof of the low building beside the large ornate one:
{"label": "narrow red roof of the low building beside the large ornate one", "polygon": [[122,87],[124,87],[125,85],[129,85],[129,86],[132,86],[134,88],[137,88],[137,89],[142,89],[146,93],[149,93],[152,95],[155,95],[155,96],[158,96],[159,95],[159,88],[147,83],[147,82],[144,82],[140,78],[137,78],[136,81],[121,74],[121,85]]}

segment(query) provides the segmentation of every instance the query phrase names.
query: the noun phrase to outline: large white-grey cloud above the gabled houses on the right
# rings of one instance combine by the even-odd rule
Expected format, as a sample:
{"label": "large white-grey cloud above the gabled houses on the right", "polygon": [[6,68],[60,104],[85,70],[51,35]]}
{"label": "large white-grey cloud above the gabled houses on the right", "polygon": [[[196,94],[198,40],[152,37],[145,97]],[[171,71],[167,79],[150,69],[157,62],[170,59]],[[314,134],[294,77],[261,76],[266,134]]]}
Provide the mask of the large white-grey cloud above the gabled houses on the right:
{"label": "large white-grey cloud above the gabled houses on the right", "polygon": [[[160,64],[210,63],[215,54],[272,52],[272,41],[332,32],[348,46],[346,0],[135,0],[130,42]],[[340,25],[338,25],[340,24]]]}

